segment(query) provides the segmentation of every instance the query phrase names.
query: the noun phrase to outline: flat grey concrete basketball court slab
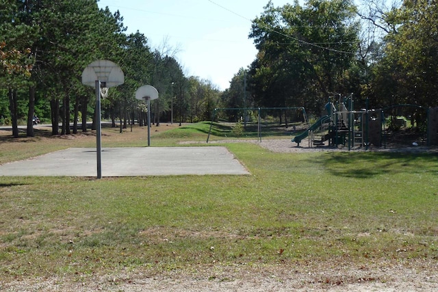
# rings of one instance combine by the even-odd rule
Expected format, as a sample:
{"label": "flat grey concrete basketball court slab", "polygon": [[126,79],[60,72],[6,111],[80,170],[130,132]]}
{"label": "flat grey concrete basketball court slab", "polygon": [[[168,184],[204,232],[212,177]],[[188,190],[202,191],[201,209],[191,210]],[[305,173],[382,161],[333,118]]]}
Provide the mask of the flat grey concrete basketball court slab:
{"label": "flat grey concrete basketball court slab", "polygon": [[[223,146],[102,148],[102,176],[249,174]],[[97,176],[96,148],[68,148],[0,165],[0,176]]]}

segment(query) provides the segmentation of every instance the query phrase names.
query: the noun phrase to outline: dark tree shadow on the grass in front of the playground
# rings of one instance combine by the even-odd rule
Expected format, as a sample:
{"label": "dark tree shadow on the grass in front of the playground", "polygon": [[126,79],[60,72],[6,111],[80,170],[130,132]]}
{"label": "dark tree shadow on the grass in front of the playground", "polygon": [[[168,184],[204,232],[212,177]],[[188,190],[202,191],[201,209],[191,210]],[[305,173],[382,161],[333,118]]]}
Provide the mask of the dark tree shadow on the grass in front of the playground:
{"label": "dark tree shadow on the grass in front of the playground", "polygon": [[381,174],[438,175],[438,153],[331,152],[315,158],[335,176],[371,178]]}

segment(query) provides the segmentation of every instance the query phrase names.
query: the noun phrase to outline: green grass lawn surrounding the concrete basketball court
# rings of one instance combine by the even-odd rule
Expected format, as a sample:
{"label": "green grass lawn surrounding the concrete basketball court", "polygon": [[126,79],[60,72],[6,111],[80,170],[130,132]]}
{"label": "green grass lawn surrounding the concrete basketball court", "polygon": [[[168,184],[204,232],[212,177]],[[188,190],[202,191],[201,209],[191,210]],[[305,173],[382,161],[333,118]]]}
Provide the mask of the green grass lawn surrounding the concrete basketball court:
{"label": "green grass lawn surrounding the concrete basketball court", "polygon": [[[153,145],[204,140],[205,124],[196,127],[160,131]],[[105,131],[103,146],[139,144],[136,133]],[[28,147],[70,145],[44,141]],[[86,137],[70,146],[90,143]],[[1,278],[437,260],[436,154],[291,154],[224,145],[251,175],[2,177]],[[3,161],[29,155],[6,148]]]}

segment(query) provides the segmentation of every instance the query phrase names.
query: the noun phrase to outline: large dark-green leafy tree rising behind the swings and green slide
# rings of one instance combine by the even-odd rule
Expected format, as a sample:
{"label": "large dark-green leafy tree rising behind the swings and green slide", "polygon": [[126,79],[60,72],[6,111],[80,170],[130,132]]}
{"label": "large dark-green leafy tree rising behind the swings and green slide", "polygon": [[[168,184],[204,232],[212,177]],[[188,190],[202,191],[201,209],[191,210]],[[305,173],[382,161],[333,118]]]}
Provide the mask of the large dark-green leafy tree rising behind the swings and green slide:
{"label": "large dark-green leafy tree rising behind the swings and green slide", "polygon": [[347,0],[309,0],[303,7],[274,8],[253,21],[250,38],[259,50],[251,88],[263,105],[317,110],[346,87],[355,62],[359,25]]}

